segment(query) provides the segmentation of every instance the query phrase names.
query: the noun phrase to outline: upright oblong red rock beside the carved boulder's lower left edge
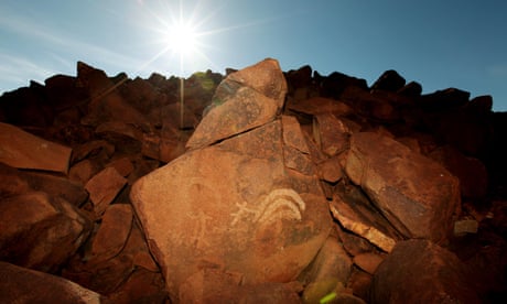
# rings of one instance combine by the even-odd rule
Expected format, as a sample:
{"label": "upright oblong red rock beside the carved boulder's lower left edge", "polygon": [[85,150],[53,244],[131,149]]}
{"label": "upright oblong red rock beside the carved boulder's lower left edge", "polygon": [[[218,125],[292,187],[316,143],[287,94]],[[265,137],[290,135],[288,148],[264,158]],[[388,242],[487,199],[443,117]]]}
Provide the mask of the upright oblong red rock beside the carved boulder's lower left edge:
{"label": "upright oblong red rock beside the carved boulder's lower left edge", "polygon": [[132,208],[129,204],[110,205],[91,243],[91,256],[108,260],[123,249],[132,228]]}

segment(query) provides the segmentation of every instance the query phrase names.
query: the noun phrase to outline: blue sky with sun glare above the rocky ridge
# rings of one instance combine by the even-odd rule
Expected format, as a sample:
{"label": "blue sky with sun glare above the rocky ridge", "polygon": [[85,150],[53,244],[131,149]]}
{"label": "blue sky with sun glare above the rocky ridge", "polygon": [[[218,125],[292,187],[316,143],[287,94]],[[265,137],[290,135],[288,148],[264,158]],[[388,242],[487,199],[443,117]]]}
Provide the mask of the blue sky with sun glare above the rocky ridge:
{"label": "blue sky with sun glare above the rocky ridge", "polygon": [[[192,24],[181,53],[168,32]],[[83,61],[114,76],[188,76],[265,57],[369,85],[396,69],[423,93],[492,95],[507,111],[505,0],[1,0],[0,94],[76,75]],[[183,63],[183,64],[182,64]]]}

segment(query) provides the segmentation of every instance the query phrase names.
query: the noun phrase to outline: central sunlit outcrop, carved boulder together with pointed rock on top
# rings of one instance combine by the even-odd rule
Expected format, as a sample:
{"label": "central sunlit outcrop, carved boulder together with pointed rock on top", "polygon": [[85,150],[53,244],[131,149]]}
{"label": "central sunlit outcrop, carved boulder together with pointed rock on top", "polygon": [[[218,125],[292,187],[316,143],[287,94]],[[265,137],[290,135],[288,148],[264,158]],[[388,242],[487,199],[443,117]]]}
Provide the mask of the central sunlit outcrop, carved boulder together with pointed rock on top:
{"label": "central sunlit outcrop, carved boulder together with pointed rock on top", "polygon": [[[274,117],[285,84],[273,65],[269,59],[230,74],[214,97],[225,101],[188,140],[193,150],[132,187],[174,301],[202,302],[182,289],[207,269],[242,284],[294,281],[327,238],[331,217],[305,139],[296,121]],[[237,87],[227,91],[231,84]]]}

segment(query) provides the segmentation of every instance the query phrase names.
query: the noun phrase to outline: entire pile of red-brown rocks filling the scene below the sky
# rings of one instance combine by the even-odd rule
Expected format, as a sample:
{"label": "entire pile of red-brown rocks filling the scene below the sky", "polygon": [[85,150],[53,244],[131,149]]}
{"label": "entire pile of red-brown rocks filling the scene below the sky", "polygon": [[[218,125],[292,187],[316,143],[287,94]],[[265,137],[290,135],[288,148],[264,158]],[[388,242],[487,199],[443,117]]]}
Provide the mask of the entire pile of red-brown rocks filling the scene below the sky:
{"label": "entire pile of red-brown rocks filling the scene below the sky", "polygon": [[505,294],[505,122],[490,97],[274,59],[196,73],[184,105],[181,84],[78,63],[1,97],[2,300]]}

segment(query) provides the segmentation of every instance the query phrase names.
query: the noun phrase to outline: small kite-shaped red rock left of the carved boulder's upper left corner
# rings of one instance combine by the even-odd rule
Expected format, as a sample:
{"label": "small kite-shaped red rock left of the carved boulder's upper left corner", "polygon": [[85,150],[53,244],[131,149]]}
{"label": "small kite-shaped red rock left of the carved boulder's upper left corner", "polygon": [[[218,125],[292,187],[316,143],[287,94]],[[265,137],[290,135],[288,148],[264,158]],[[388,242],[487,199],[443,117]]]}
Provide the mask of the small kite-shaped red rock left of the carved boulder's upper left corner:
{"label": "small kite-shaped red rock left of the carved boulder's upper left corner", "polygon": [[127,180],[111,166],[100,171],[86,183],[85,188],[89,192],[89,198],[97,216],[104,214],[126,184]]}

